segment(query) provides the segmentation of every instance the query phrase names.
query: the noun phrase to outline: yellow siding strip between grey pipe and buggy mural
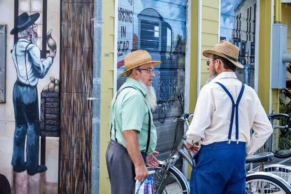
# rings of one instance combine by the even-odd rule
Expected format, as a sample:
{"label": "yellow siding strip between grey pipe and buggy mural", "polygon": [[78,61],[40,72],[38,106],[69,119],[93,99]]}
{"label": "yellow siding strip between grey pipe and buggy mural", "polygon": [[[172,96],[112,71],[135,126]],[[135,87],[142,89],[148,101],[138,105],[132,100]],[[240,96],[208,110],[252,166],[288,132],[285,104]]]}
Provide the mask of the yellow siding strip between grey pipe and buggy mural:
{"label": "yellow siding strip between grey pipe and buggy mural", "polygon": [[[114,0],[102,1],[102,53],[101,53],[101,109],[100,109],[100,177],[99,193],[110,194],[105,152],[109,143],[109,109],[113,98],[114,77]],[[101,41],[101,40],[100,40]],[[109,56],[107,56],[107,54]]]}

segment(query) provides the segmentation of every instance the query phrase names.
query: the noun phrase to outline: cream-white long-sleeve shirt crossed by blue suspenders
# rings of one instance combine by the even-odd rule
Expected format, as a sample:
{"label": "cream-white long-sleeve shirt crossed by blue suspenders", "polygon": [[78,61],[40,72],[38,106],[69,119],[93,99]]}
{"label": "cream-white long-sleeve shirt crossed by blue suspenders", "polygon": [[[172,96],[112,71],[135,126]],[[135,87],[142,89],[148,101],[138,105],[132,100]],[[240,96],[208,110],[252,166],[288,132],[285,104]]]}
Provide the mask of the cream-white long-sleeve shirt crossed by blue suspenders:
{"label": "cream-white long-sleeve shirt crossed by blue suspenders", "polygon": [[[222,72],[210,83],[203,86],[197,99],[194,117],[186,133],[187,142],[209,145],[228,140],[232,103],[223,88],[215,82],[222,83],[230,92],[236,103],[242,88],[234,72]],[[239,103],[239,141],[246,142],[246,153],[253,154],[272,134],[272,125],[260,103],[255,90],[245,85]],[[235,115],[231,141],[235,139]],[[251,128],[254,133],[251,135]]]}

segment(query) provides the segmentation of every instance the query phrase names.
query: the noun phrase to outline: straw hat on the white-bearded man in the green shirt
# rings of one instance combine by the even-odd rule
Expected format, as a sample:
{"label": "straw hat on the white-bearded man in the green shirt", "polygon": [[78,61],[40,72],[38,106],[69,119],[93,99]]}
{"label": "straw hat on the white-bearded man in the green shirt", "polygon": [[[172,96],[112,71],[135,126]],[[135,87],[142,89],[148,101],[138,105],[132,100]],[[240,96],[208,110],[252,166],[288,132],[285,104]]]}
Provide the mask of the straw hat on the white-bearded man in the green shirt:
{"label": "straw hat on the white-bearded man in the green shirt", "polygon": [[146,50],[133,51],[124,58],[125,70],[121,74],[119,74],[119,76],[124,75],[130,69],[133,69],[135,67],[148,64],[148,63],[152,63],[153,66],[156,66],[156,65],[161,64],[162,62],[152,61],[151,56],[148,54]]}

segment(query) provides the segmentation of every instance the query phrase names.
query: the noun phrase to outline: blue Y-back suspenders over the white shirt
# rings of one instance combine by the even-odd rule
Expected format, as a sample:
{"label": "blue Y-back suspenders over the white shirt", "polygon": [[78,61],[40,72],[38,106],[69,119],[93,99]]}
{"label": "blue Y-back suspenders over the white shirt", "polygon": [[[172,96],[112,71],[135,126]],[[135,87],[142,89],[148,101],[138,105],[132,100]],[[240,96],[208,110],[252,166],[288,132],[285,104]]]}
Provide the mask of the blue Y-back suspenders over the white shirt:
{"label": "blue Y-back suspenders over the white shirt", "polygon": [[239,143],[239,103],[240,100],[242,98],[242,94],[243,94],[243,90],[244,90],[244,84],[242,83],[242,89],[240,91],[239,97],[237,99],[237,102],[234,103],[233,97],[231,96],[231,94],[229,93],[229,91],[226,89],[226,87],[219,82],[215,82],[218,85],[220,85],[224,91],[226,91],[226,94],[229,96],[229,98],[231,99],[232,102],[232,111],[231,111],[231,120],[230,120],[230,126],[229,126],[229,131],[228,131],[228,142],[227,144],[230,143],[230,139],[231,139],[231,131],[232,131],[232,124],[233,124],[233,117],[234,117],[234,111],[235,111],[235,139],[237,144]]}

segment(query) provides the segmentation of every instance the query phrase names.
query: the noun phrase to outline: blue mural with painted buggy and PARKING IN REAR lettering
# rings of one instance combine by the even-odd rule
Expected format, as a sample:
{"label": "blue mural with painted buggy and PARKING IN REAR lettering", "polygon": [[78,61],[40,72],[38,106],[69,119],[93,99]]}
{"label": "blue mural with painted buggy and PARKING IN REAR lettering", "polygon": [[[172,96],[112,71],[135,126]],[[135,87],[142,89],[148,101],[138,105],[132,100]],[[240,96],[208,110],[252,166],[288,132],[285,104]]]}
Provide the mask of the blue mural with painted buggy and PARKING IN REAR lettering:
{"label": "blue mural with painted buggy and PARKING IN REAR lettering", "polygon": [[[177,94],[184,91],[185,37],[186,0],[118,0],[117,75],[125,69],[124,57],[134,50],[146,50],[153,61],[162,62],[155,66],[152,83],[157,92],[153,117],[160,152],[172,148],[174,116],[181,113]],[[125,80],[126,76],[117,78],[117,90]]]}

